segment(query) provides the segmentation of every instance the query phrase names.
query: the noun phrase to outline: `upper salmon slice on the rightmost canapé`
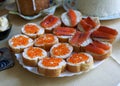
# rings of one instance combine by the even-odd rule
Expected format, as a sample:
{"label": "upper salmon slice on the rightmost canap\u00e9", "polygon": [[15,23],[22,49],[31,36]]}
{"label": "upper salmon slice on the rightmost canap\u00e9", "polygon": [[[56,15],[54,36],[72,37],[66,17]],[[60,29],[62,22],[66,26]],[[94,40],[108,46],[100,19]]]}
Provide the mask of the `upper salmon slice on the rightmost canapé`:
{"label": "upper salmon slice on the rightmost canap\u00e9", "polygon": [[111,35],[117,35],[118,32],[112,28],[109,28],[109,27],[105,27],[105,26],[100,26],[98,31],[102,31],[102,32],[105,32],[105,33],[108,33],[108,34],[111,34]]}

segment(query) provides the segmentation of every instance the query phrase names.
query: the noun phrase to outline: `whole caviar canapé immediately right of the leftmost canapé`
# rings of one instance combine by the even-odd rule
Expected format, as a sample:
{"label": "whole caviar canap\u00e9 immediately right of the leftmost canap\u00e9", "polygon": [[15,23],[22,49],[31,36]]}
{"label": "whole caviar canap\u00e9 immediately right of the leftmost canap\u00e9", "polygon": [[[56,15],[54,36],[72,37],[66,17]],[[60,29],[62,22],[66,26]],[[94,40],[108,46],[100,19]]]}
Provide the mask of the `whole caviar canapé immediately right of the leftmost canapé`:
{"label": "whole caviar canap\u00e9 immediately right of the leftmost canap\u00e9", "polygon": [[59,41],[57,36],[53,34],[44,34],[43,36],[40,36],[37,39],[35,39],[34,46],[41,47],[46,51],[49,51],[50,48],[58,42]]}

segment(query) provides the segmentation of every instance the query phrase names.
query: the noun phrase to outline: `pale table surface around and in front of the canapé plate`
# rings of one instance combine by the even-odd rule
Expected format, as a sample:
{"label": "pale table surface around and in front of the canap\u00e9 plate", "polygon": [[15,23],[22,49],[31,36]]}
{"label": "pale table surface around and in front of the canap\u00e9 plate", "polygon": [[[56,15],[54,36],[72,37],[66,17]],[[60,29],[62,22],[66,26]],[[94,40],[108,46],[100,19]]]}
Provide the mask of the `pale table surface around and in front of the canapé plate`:
{"label": "pale table surface around and in front of the canap\u00e9 plate", "polygon": [[[55,15],[60,16],[62,12],[64,12],[64,9],[60,7],[57,9]],[[0,15],[5,13],[7,11],[1,9]],[[8,38],[0,41],[0,48],[8,47],[8,39],[20,33],[21,27],[24,24],[30,22],[39,24],[42,19],[40,17],[32,21],[27,21],[16,15],[9,15],[9,18],[13,25],[12,31]],[[120,19],[101,21],[101,24],[119,29]],[[120,82],[120,65],[111,57],[106,59],[96,69],[87,73],[63,78],[38,76],[24,69],[15,57],[14,60],[14,67],[0,72],[0,86],[117,86]]]}

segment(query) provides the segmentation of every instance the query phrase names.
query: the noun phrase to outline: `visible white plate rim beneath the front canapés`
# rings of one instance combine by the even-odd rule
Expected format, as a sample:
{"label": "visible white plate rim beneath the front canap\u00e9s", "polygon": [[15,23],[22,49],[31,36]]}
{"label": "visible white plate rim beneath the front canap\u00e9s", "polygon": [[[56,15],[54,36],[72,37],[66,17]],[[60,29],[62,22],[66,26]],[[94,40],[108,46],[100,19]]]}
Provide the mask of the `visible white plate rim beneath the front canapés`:
{"label": "visible white plate rim beneath the front canap\u00e9s", "polygon": [[[30,67],[30,66],[24,65],[24,64],[23,64],[23,61],[22,61],[22,55],[21,55],[21,54],[15,54],[15,56],[16,56],[17,60],[19,61],[19,64],[21,64],[21,65],[23,66],[23,68],[25,68],[25,69],[27,69],[28,71],[30,71],[30,72],[32,72],[32,73],[35,73],[35,74],[37,74],[37,75],[44,76],[44,75],[42,75],[42,74],[40,74],[40,73],[37,72],[37,68],[36,68],[36,67]],[[92,69],[98,67],[98,66],[99,66],[100,64],[102,64],[104,61],[105,61],[105,60],[94,62],[94,65],[93,65],[93,68],[92,68]],[[91,69],[90,69],[90,70],[91,70]],[[90,70],[88,70],[88,71],[90,71]],[[88,72],[88,71],[86,71],[86,72]],[[79,75],[79,74],[82,74],[82,73],[84,73],[84,72],[72,73],[72,72],[69,72],[69,71],[65,71],[65,72],[61,73],[60,76],[58,76],[58,77],[67,77],[67,76]]]}

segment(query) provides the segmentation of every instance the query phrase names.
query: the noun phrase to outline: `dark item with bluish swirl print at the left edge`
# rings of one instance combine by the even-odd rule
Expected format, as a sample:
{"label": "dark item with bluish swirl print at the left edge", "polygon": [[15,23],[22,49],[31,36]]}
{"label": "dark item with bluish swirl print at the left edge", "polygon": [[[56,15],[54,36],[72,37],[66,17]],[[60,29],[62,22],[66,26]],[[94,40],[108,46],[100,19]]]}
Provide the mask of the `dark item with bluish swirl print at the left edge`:
{"label": "dark item with bluish swirl print at the left edge", "polygon": [[6,47],[0,48],[0,71],[14,66],[13,54]]}

